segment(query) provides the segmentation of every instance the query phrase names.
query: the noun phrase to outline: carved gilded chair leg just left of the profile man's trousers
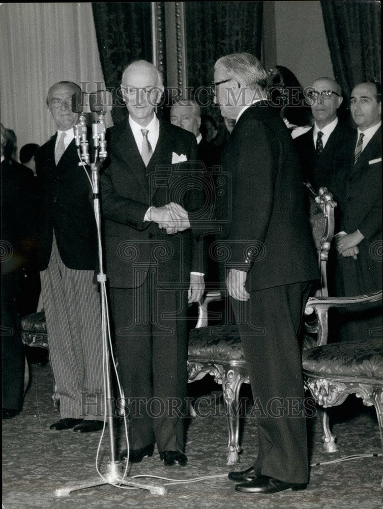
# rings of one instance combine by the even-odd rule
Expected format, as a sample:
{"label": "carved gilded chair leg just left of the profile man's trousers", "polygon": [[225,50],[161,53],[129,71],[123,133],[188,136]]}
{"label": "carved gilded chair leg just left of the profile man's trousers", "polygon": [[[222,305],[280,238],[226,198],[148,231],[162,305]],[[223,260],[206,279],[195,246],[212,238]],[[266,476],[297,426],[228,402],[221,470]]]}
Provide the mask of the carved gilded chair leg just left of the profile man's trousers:
{"label": "carved gilded chair leg just left of the profile man's trousers", "polygon": [[240,462],[239,452],[239,393],[243,379],[238,370],[229,368],[225,370],[222,377],[223,397],[225,409],[227,412],[227,424],[229,428],[229,453],[227,455],[227,465],[235,465]]}

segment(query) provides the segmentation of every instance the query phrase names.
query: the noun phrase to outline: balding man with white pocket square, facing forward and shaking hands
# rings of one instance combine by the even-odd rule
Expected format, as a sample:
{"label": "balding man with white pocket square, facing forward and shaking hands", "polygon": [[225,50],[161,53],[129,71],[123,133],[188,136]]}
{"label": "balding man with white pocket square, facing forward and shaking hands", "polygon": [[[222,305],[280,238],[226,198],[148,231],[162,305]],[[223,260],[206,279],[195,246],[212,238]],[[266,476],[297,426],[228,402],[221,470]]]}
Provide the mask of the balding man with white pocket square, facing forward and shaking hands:
{"label": "balding man with white pocket square, facing forward and shaking hands", "polygon": [[204,288],[194,229],[203,194],[190,185],[197,144],[155,115],[163,93],[155,66],[133,62],[121,88],[129,117],[110,129],[101,193],[129,458],[152,456],[157,443],[165,465],[185,465],[187,303]]}

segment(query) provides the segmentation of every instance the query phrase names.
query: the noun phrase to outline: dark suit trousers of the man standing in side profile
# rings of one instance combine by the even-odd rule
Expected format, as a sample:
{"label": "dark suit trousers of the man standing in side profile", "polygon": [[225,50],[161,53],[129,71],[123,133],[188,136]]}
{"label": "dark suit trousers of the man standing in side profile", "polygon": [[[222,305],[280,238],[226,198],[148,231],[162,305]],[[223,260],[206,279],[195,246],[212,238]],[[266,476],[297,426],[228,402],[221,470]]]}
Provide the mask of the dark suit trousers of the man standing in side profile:
{"label": "dark suit trousers of the man standing in side profile", "polygon": [[[254,398],[259,448],[255,468],[288,483],[307,483],[302,361],[297,340],[310,284],[231,299]],[[293,407],[293,408],[292,408]]]}

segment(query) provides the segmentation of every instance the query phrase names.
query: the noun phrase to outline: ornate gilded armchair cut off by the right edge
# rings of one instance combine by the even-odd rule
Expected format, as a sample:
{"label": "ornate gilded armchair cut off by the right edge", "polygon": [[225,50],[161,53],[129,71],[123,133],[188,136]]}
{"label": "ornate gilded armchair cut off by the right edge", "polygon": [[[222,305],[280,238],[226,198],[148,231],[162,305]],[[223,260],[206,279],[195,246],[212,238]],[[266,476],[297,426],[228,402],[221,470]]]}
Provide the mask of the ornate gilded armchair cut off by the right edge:
{"label": "ornate gilded armchair cut off by the right edge", "polygon": [[[306,313],[317,316],[317,346],[303,351],[302,364],[305,386],[323,411],[323,441],[329,453],[338,450],[330,430],[326,408],[340,405],[349,394],[362,398],[366,406],[376,410],[381,446],[383,449],[383,340],[381,330],[376,338],[363,337],[359,341],[332,343],[328,340],[330,307],[368,305],[381,301],[381,291],[357,297],[310,297]],[[381,481],[383,489],[383,478]]]}

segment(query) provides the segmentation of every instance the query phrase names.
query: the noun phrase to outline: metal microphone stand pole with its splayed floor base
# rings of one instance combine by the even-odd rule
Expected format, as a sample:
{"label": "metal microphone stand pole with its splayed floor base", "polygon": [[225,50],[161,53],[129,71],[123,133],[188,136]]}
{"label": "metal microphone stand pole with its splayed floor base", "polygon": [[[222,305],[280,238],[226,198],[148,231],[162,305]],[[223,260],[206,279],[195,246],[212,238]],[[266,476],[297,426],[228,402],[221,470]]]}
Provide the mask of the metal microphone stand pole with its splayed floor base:
{"label": "metal microphone stand pole with its splayed floor base", "polygon": [[109,344],[108,344],[108,326],[107,326],[107,302],[106,294],[103,286],[106,282],[106,274],[103,269],[103,254],[102,254],[102,242],[101,242],[101,207],[100,207],[100,195],[99,195],[99,170],[102,160],[91,164],[92,169],[92,181],[94,189],[94,209],[96,216],[97,225],[97,238],[98,238],[98,257],[99,257],[99,274],[97,280],[100,284],[101,293],[101,312],[102,312],[102,341],[104,349],[104,367],[105,367],[105,394],[106,394],[106,408],[105,411],[108,430],[109,430],[109,461],[106,464],[106,473],[100,477],[93,477],[79,481],[78,483],[69,483],[63,488],[55,490],[57,497],[68,496],[72,491],[83,490],[86,488],[92,488],[94,486],[102,486],[106,484],[110,485],[125,485],[133,488],[141,488],[143,490],[149,490],[153,495],[165,495],[166,488],[161,485],[148,484],[141,480],[130,479],[129,477],[123,476],[122,464],[116,460],[115,454],[115,440],[114,440],[114,427],[113,427],[113,405],[112,405],[112,391],[110,381],[110,362],[109,362]]}

